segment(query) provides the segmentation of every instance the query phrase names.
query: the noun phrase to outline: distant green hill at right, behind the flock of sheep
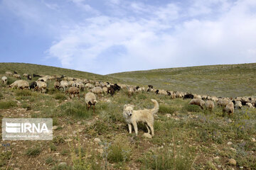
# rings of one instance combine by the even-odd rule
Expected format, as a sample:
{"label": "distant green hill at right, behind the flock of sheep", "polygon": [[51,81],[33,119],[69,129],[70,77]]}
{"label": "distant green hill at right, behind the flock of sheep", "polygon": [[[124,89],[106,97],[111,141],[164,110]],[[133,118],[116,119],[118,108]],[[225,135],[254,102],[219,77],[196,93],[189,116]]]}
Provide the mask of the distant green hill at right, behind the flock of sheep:
{"label": "distant green hill at right, behind the flock of sheep", "polygon": [[256,63],[121,72],[108,76],[127,84],[215,96],[256,96]]}

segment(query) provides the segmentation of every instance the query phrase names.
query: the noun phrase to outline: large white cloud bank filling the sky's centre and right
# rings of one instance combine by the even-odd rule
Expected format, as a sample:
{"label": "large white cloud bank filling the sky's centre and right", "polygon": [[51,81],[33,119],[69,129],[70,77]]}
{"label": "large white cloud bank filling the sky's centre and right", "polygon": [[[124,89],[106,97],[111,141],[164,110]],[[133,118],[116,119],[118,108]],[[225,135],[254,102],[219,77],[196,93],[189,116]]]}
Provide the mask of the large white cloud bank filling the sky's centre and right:
{"label": "large white cloud bank filling the sky's centre and right", "polygon": [[[63,67],[100,74],[256,62],[255,3],[216,0],[207,6],[196,1],[156,7],[133,2],[127,13],[146,16],[87,18],[53,43],[48,55],[58,57]],[[203,17],[210,13],[218,17]]]}

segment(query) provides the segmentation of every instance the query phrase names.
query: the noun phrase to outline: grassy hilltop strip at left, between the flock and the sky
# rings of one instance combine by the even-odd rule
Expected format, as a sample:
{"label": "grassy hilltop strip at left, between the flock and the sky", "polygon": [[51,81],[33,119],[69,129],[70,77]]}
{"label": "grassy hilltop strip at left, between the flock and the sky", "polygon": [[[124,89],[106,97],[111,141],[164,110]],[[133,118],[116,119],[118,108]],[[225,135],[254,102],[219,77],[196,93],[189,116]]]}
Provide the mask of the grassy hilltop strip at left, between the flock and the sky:
{"label": "grassy hilltop strip at left, between the flock and the sky", "polygon": [[18,74],[44,74],[44,75],[65,75],[67,77],[77,77],[83,79],[95,79],[102,81],[118,81],[115,78],[102,76],[100,74],[92,74],[89,72],[80,72],[74,69],[63,69],[60,67],[50,67],[39,64],[27,64],[27,63],[0,63],[0,74],[4,74],[6,71],[18,72]]}

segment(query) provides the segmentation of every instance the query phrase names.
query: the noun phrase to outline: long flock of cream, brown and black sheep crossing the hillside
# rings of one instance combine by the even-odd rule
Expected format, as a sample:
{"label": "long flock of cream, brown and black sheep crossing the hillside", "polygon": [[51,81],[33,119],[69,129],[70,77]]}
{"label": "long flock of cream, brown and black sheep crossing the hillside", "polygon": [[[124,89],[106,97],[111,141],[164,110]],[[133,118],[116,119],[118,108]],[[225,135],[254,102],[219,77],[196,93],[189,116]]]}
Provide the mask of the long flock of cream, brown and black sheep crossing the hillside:
{"label": "long flock of cream, brown and black sheep crossing the hillside", "polygon": [[[233,115],[234,108],[240,109],[242,106],[247,106],[248,108],[256,107],[256,98],[252,97],[236,97],[236,98],[222,98],[216,96],[206,96],[206,95],[198,95],[198,94],[189,94],[183,93],[181,91],[166,91],[162,89],[154,89],[152,85],[149,85],[147,88],[126,84],[111,84],[109,82],[102,81],[93,81],[90,79],[76,79],[73,77],[65,77],[64,75],[61,77],[58,76],[40,76],[37,74],[33,74],[33,77],[38,77],[37,81],[31,82],[28,84],[28,81],[21,80],[21,75],[17,72],[6,72],[6,76],[2,77],[1,80],[4,84],[7,83],[7,77],[15,77],[16,80],[9,87],[17,88],[17,89],[31,89],[33,91],[40,91],[41,93],[46,93],[47,81],[54,81],[54,88],[60,91],[65,91],[66,94],[69,94],[70,97],[75,94],[80,98],[80,91],[84,89],[89,89],[90,92],[85,94],[85,102],[87,104],[87,108],[93,106],[93,111],[95,111],[95,103],[97,103],[97,97],[102,96],[103,93],[114,95],[116,91],[120,89],[124,89],[128,91],[128,96],[132,96],[135,93],[141,93],[142,91],[151,92],[155,94],[161,94],[170,96],[171,99],[174,98],[183,98],[183,99],[191,99],[189,104],[198,105],[202,109],[205,106],[210,112],[213,111],[215,107],[215,103],[223,108],[224,113],[228,113],[229,115]],[[23,77],[31,80],[31,74],[23,74]]]}

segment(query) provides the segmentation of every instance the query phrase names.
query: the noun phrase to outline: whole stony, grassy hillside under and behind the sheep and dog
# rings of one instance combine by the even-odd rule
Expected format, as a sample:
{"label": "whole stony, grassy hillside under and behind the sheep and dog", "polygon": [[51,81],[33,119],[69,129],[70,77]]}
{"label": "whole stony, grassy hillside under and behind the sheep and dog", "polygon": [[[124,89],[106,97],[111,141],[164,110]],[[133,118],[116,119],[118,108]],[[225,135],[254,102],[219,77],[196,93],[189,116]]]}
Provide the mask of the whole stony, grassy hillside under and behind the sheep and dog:
{"label": "whole stony, grassy hillside under and behind the sheep and dog", "polygon": [[[226,73],[222,75],[218,69],[226,70]],[[190,85],[185,81],[188,77],[189,81],[193,80],[191,84],[195,84],[194,80],[202,82],[203,77],[208,77],[207,81],[213,77],[215,82],[219,79],[218,73],[220,77],[233,77],[223,80],[223,84],[242,86],[240,84],[245,84],[242,81],[249,82],[242,78],[244,75],[250,79],[246,85],[255,88],[251,83],[255,81],[252,74],[254,69],[255,64],[230,68],[188,67],[114,74],[113,78],[36,64],[1,63],[0,76],[6,71],[15,70],[20,74],[65,74],[110,82],[127,81],[127,84],[149,82],[156,87],[166,86],[166,89],[170,86],[163,83],[166,82],[165,77],[171,77],[171,82],[179,82],[178,86],[186,91],[186,86]],[[242,70],[242,73],[238,70]],[[120,81],[116,75],[119,75]],[[142,82],[139,81],[140,77]],[[151,80],[146,80],[146,77]],[[242,81],[238,81],[237,77]],[[155,81],[152,81],[153,78]],[[8,77],[8,84],[15,80],[14,77]],[[220,86],[220,80],[217,82],[215,84]],[[113,96],[107,93],[97,95],[94,112],[91,108],[87,109],[83,97],[89,89],[81,89],[78,98],[55,89],[53,83],[47,81],[46,94],[32,89],[11,89],[8,84],[0,83],[0,119],[53,119],[53,140],[1,140],[0,169],[256,169],[255,108],[242,106],[235,108],[234,113],[229,115],[223,113],[223,108],[217,103],[210,112],[206,107],[202,110],[199,106],[189,105],[190,100],[183,98],[171,99],[167,95],[146,91],[130,96],[124,88]],[[173,88],[178,89],[175,86]],[[187,88],[192,87],[190,85]],[[203,84],[202,88],[208,90],[212,87]],[[218,87],[218,92],[221,91],[224,95],[230,89]],[[132,104],[134,110],[153,108],[151,98],[159,103],[159,111],[154,114],[154,136],[147,134],[149,131],[144,123],[138,123],[138,135],[135,135],[134,125],[132,134],[129,134],[123,115],[124,105]],[[252,100],[256,101],[256,98]],[[147,137],[144,137],[145,134]]]}

